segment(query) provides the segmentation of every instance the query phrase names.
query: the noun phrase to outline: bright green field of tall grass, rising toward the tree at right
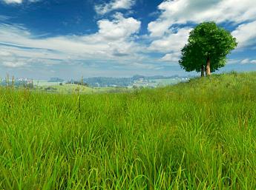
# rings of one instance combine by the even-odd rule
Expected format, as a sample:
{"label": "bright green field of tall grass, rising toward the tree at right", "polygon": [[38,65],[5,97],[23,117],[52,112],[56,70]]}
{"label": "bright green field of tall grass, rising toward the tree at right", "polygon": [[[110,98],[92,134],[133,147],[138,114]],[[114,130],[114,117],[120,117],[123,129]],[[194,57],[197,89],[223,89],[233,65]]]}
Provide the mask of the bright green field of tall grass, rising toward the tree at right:
{"label": "bright green field of tall grass, rising toward the tree at right", "polygon": [[0,105],[0,189],[256,187],[255,72]]}

